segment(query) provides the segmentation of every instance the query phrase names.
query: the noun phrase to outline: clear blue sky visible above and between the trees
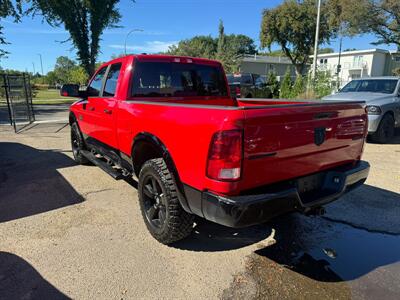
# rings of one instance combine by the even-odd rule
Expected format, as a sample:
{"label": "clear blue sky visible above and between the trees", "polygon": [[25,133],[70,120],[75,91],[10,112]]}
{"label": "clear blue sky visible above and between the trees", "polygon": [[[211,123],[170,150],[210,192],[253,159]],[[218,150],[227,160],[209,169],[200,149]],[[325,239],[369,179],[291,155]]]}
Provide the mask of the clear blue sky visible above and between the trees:
{"label": "clear blue sky visible above and between the trees", "polygon": [[[121,0],[118,8],[122,15],[121,28],[107,29],[100,42],[99,61],[107,61],[113,54],[124,53],[127,33],[134,32],[127,40],[127,51],[131,53],[155,53],[165,51],[178,41],[195,35],[218,35],[218,23],[224,22],[227,34],[245,34],[259,45],[262,11],[279,5],[280,0]],[[0,61],[3,69],[43,72],[54,67],[56,58],[68,56],[76,59],[76,52],[68,39],[68,32],[61,27],[51,27],[40,16],[24,17],[22,22],[13,23],[2,19],[4,34],[10,45],[2,46],[10,52],[8,58]],[[345,38],[343,49],[369,49],[376,37],[373,35]],[[338,41],[330,45],[336,51]],[[380,45],[382,49],[395,49],[393,45]],[[275,49],[278,49],[275,46]],[[40,54],[40,55],[39,55]]]}

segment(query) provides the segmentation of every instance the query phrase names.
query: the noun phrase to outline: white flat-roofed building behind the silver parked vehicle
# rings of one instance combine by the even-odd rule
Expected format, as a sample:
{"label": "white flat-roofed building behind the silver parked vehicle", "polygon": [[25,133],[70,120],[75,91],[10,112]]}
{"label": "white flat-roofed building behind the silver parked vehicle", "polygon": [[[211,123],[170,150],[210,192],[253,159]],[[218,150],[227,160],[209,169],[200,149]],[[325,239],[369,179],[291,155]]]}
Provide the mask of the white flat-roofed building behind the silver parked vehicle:
{"label": "white flat-roofed building behind the silver parked vehicle", "polygon": [[[318,55],[318,70],[330,71],[333,81],[337,78],[338,64],[337,52]],[[355,78],[390,76],[394,69],[400,68],[400,52],[382,49],[346,51],[340,55],[340,65],[340,86]]]}

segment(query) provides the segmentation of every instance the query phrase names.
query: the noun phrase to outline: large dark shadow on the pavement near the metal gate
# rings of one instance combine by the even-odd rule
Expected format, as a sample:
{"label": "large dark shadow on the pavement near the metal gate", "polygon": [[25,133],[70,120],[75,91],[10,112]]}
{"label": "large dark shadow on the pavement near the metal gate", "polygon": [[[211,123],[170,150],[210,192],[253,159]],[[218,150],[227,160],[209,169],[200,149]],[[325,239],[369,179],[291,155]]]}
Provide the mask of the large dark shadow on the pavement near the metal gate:
{"label": "large dark shadow on the pavement near the metal gate", "polygon": [[0,142],[0,222],[84,201],[57,171],[74,165],[57,151]]}

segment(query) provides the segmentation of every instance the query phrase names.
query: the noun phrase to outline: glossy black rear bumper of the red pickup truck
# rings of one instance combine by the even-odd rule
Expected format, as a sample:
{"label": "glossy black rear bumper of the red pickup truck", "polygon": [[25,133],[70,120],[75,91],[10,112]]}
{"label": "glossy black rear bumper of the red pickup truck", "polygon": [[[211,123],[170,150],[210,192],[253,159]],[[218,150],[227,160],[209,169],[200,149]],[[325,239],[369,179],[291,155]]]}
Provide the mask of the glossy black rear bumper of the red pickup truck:
{"label": "glossy black rear bumper of the red pickup truck", "polygon": [[354,167],[328,170],[322,175],[320,188],[312,193],[299,192],[298,182],[291,187],[260,194],[224,197],[185,187],[189,207],[193,213],[228,227],[245,227],[293,211],[307,212],[332,202],[344,193],[361,185],[368,177],[369,164],[360,161]]}

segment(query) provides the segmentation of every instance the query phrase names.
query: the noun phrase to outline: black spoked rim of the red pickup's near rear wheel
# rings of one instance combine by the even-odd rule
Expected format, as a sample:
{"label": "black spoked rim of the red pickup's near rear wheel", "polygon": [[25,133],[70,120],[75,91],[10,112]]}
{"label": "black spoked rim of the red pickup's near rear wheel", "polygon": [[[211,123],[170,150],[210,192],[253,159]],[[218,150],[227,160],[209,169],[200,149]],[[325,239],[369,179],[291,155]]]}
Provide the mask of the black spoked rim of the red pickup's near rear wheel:
{"label": "black spoked rim of the red pickup's near rear wheel", "polygon": [[161,229],[167,217],[165,195],[161,184],[153,175],[143,180],[142,197],[147,221],[156,229]]}

